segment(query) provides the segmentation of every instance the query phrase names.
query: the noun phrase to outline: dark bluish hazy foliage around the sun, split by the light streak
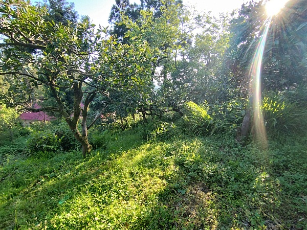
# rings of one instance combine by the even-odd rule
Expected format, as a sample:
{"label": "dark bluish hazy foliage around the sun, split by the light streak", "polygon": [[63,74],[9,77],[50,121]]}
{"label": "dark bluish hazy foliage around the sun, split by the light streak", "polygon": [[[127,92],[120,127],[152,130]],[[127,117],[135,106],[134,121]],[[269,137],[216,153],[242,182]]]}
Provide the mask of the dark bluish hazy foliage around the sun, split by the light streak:
{"label": "dark bluish hazy foliage around the sun, split by the light streak", "polygon": [[[246,97],[249,89],[249,68],[261,32],[270,30],[262,57],[262,90],[293,89],[306,80],[306,14],[305,0],[291,0],[271,20],[265,3],[243,4],[231,21],[232,39],[227,52],[226,73],[230,83]],[[230,95],[231,96],[231,95]]]}

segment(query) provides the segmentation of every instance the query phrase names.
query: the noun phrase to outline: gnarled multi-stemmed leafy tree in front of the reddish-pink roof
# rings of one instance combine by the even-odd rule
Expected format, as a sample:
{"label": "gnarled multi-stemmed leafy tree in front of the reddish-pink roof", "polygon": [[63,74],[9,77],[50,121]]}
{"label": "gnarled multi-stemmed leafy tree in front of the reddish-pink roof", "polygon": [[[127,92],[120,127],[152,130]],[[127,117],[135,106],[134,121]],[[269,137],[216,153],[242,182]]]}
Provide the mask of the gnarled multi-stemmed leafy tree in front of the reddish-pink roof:
{"label": "gnarled multi-stemmed leafy tree in front of the reddish-pink roof", "polygon": [[[44,20],[46,15],[46,8],[28,2],[0,3],[0,75],[9,87],[0,94],[0,100],[8,107],[18,105],[33,112],[60,114],[86,156],[91,150],[87,131],[100,117],[97,114],[87,125],[91,102],[97,95],[109,96],[112,90],[144,87],[152,71],[148,65],[150,49],[146,44],[117,44],[112,36],[102,36],[104,28],[95,30],[88,18],[73,26],[68,21],[64,26]],[[38,89],[43,94],[37,95]],[[41,103],[41,108],[34,109],[33,100],[51,103]]]}

